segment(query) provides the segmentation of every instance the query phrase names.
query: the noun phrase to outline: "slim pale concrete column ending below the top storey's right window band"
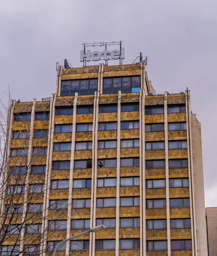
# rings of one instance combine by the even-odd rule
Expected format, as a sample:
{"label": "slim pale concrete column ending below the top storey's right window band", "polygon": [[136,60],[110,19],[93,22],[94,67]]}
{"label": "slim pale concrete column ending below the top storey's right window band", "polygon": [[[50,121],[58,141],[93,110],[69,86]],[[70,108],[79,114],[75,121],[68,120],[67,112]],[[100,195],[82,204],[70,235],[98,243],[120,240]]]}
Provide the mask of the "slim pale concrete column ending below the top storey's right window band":
{"label": "slim pale concrete column ending below the top storey's right window band", "polygon": [[121,91],[118,91],[117,98],[117,174],[116,174],[116,245],[115,255],[119,255],[119,223],[120,223],[120,111],[121,111]]}

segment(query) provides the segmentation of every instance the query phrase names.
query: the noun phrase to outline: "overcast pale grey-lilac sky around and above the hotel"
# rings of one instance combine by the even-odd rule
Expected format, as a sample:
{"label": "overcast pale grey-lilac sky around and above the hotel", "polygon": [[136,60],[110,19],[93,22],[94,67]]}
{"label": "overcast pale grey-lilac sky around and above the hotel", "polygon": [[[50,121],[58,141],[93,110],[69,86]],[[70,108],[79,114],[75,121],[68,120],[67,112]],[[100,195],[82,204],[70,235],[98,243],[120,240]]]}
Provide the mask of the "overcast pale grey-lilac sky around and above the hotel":
{"label": "overcast pale grey-lilac sky around and above the hotel", "polygon": [[217,207],[216,0],[1,0],[0,99],[56,90],[56,62],[81,67],[82,44],[123,40],[124,64],[143,52],[158,92],[191,91],[202,125],[207,207]]}

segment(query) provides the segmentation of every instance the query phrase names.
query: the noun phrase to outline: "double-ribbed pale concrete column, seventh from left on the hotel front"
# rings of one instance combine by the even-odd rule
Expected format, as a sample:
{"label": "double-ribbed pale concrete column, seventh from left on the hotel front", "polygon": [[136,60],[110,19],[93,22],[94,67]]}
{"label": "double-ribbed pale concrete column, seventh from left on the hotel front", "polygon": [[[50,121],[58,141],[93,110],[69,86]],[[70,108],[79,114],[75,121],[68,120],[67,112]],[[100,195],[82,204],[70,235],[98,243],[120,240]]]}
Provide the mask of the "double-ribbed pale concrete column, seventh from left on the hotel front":
{"label": "double-ribbed pale concrete column, seventh from left on the hotel front", "polygon": [[146,254],[145,90],[140,90],[140,255]]}

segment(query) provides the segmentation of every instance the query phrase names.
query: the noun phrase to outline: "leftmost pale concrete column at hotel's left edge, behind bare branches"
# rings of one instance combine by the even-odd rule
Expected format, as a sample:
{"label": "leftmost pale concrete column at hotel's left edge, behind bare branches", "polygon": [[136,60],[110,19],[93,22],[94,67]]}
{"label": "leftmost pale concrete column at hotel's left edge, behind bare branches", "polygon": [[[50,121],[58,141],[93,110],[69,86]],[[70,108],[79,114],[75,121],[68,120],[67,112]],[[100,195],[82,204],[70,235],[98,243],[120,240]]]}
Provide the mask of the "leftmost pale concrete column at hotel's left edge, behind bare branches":
{"label": "leftmost pale concrete column at hotel's left edge, behind bare branches", "polygon": [[0,229],[2,225],[2,218],[3,218],[3,212],[4,212],[4,198],[5,198],[5,191],[6,191],[6,182],[5,180],[7,179],[8,176],[8,170],[9,170],[9,157],[10,157],[10,145],[11,145],[11,138],[12,138],[12,125],[13,125],[13,112],[14,112],[14,106],[15,106],[16,101],[11,100],[10,102],[10,108],[9,108],[9,113],[8,113],[8,126],[7,126],[7,131],[6,131],[6,151],[5,155],[3,158],[3,177],[1,180],[1,190],[0,193],[2,195],[0,199]]}

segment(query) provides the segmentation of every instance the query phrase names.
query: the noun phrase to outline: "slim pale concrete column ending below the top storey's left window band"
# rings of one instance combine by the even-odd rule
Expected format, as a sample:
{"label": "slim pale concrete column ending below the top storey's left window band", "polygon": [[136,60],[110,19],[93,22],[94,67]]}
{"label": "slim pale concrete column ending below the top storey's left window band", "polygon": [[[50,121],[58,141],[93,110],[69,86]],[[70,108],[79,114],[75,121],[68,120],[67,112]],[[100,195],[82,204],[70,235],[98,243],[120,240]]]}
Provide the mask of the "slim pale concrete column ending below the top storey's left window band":
{"label": "slim pale concrete column ending below the top storey's left window band", "polygon": [[[69,173],[69,201],[68,201],[68,215],[67,215],[67,232],[66,238],[70,237],[71,229],[71,208],[72,208],[72,189],[73,189],[73,169],[74,169],[74,146],[75,146],[75,131],[76,131],[76,113],[77,113],[77,93],[74,96],[73,102],[73,120],[72,120],[72,133],[71,133],[71,160],[70,160],[70,173]],[[66,242],[66,255],[69,255],[70,241]]]}

